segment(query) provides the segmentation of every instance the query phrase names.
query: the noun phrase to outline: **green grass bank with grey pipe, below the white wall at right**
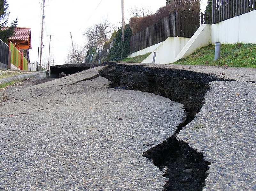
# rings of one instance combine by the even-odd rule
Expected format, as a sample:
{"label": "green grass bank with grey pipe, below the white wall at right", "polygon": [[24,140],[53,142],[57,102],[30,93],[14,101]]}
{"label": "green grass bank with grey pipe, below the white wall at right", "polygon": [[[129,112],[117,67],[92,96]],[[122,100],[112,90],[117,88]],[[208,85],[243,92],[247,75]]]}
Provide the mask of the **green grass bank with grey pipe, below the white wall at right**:
{"label": "green grass bank with grey pipe, below the white wall at right", "polygon": [[214,45],[198,49],[174,64],[256,68],[256,44],[221,45],[221,57],[214,61]]}

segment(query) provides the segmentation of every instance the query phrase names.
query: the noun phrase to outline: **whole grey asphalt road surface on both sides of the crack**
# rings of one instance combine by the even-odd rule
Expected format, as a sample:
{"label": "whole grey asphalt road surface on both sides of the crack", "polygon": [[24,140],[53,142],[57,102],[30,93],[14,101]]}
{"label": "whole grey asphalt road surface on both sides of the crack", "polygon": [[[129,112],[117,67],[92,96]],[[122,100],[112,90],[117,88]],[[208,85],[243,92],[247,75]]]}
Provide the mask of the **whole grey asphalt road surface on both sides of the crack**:
{"label": "whole grey asphalt road surface on both sides of the crack", "polygon": [[[165,67],[242,81],[211,82],[201,111],[177,138],[211,162],[204,191],[256,190],[256,84],[246,82],[256,81],[255,70]],[[0,188],[163,189],[164,172],[142,153],[174,134],[182,105],[109,89],[103,68],[0,92]]]}

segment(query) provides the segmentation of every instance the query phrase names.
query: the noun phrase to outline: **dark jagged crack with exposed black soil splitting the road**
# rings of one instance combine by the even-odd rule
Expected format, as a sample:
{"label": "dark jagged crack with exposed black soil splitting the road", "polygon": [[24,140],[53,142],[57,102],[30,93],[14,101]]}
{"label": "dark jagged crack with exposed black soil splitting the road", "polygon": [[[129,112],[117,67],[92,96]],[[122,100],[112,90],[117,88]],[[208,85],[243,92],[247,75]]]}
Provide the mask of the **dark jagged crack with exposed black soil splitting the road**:
{"label": "dark jagged crack with exposed black soil splitting the road", "polygon": [[229,81],[210,74],[172,68],[158,68],[150,65],[105,62],[108,68],[101,76],[111,81],[111,88],[124,88],[151,92],[184,105],[186,117],[177,126],[175,134],[163,143],[144,152],[160,169],[167,167],[169,178],[164,190],[202,190],[210,161],[203,153],[180,141],[176,135],[193,121],[204,104],[204,96],[212,81]]}

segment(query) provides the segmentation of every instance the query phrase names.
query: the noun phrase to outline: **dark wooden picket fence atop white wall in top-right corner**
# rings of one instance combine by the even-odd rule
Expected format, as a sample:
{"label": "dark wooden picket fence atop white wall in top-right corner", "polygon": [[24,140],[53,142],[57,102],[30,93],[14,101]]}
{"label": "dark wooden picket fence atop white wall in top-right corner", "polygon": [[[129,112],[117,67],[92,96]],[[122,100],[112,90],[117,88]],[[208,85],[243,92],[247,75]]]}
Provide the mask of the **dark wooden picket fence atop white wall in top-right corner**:
{"label": "dark wooden picket fence atop white wall in top-right corner", "polygon": [[213,0],[212,23],[256,10],[256,0]]}

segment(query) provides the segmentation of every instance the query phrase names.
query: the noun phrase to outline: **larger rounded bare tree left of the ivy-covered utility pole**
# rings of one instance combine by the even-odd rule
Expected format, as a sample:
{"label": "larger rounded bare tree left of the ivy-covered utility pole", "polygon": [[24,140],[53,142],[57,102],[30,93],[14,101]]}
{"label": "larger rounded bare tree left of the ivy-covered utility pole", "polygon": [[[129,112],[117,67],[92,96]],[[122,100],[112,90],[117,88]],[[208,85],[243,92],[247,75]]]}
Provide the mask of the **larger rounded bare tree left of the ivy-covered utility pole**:
{"label": "larger rounded bare tree left of the ivy-covered utility pole", "polygon": [[116,27],[112,25],[108,19],[87,28],[83,34],[87,38],[86,47],[96,50],[103,48],[114,30],[116,30]]}

